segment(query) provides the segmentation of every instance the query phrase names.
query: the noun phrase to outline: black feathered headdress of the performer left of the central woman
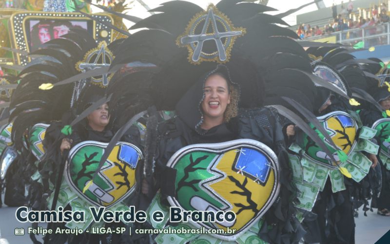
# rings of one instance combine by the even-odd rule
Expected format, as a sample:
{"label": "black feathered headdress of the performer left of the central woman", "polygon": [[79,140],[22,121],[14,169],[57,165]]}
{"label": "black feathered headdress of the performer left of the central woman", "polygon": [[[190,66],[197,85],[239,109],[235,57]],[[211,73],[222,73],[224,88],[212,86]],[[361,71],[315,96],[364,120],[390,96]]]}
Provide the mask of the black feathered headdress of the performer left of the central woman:
{"label": "black feathered headdress of the performer left of the central woman", "polygon": [[30,54],[32,61],[20,72],[20,83],[10,102],[9,120],[15,120],[13,141],[20,142],[26,129],[38,122],[60,120],[71,107],[79,110],[77,107],[95,102],[92,100],[96,94],[105,95],[105,89],[90,84],[92,81],[57,85],[60,81],[81,73],[83,70],[80,63],[87,58],[87,63],[93,59],[98,60],[98,55],[85,56],[88,51],[91,54],[91,50],[96,48],[98,45],[90,34],[72,29],[70,33],[44,43],[41,49]]}

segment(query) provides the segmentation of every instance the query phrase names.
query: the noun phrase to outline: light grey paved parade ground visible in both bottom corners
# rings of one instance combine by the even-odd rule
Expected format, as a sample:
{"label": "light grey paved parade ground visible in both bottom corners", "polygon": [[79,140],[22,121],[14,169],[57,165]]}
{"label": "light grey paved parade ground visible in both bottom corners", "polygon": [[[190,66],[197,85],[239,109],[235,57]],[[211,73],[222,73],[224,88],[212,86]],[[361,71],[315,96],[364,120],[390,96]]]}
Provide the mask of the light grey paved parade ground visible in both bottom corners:
{"label": "light grey paved parade ground visible in both bottom corners", "polygon": [[[24,236],[15,236],[15,228],[24,228],[27,233],[27,228],[31,226],[29,223],[19,223],[15,219],[16,209],[17,207],[7,207],[6,205],[0,208],[1,236],[7,239],[10,244],[32,243],[27,234]],[[363,211],[360,210],[359,218],[355,219],[356,244],[373,244],[390,230],[390,217],[376,214],[376,209],[374,212],[368,211],[367,215],[365,217]],[[39,224],[39,226],[46,227],[46,224]],[[38,241],[41,240],[38,239]]]}

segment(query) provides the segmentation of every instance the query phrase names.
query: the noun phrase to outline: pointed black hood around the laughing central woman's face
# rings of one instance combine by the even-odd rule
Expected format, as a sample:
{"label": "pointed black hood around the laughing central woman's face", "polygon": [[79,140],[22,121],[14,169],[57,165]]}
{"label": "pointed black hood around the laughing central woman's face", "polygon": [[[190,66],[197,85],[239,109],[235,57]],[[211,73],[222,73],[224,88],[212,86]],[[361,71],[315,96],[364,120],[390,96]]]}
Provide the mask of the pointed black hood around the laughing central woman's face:
{"label": "pointed black hood around the laughing central woman's face", "polygon": [[[218,64],[214,70],[207,72],[206,74],[201,76],[199,80],[184,94],[184,96],[176,104],[177,116],[180,117],[180,119],[187,126],[195,130],[199,134],[202,134],[200,125],[202,124],[201,103],[204,99],[204,83],[208,77],[215,73],[221,74],[223,78],[228,81],[229,87],[234,87],[238,91],[239,95],[239,86],[237,83],[234,83],[231,80],[228,67],[223,64]],[[231,90],[232,89],[230,89],[230,92]],[[232,98],[231,104],[234,104]]]}

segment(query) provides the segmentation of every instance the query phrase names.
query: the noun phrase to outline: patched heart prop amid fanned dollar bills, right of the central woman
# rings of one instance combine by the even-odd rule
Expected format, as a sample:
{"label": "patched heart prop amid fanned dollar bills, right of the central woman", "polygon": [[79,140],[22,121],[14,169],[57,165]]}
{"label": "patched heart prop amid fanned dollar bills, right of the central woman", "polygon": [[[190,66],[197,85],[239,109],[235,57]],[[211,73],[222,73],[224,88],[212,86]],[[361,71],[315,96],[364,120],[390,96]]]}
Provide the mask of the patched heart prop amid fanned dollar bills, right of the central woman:
{"label": "patched heart prop amid fanned dollar bills, right of the central woman", "polygon": [[[342,111],[331,112],[318,117],[317,119],[324,125],[324,128],[331,136],[333,143],[338,147],[337,150],[331,147],[326,138],[318,130],[315,130],[319,137],[326,143],[333,154],[333,158],[337,160],[337,162],[333,162],[321,147],[313,142],[306,134],[304,135],[303,140],[297,140],[298,144],[305,150],[306,155],[310,157],[312,162],[319,163],[329,168],[335,168],[341,163],[337,151],[341,150],[348,156],[356,146],[358,138],[357,123],[351,115]],[[314,127],[312,124],[311,126]]]}

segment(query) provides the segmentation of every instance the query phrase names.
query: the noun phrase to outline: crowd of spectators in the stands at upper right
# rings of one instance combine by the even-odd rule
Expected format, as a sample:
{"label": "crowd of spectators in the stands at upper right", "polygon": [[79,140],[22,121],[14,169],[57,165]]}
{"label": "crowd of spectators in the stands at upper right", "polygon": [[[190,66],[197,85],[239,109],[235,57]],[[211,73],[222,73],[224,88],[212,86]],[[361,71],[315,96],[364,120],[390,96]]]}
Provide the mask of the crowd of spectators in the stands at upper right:
{"label": "crowd of spectators in the stands at upper right", "polygon": [[[345,31],[349,29],[375,26],[377,24],[389,22],[390,18],[387,15],[387,10],[388,7],[385,3],[380,5],[380,9],[377,5],[374,5],[370,10],[371,18],[364,19],[363,17],[359,17],[359,20],[354,21],[349,18],[351,12],[353,11],[353,4],[351,0],[349,1],[347,8],[344,8],[344,4],[341,3],[341,13],[338,15],[336,5],[333,4],[333,19],[330,20],[329,24],[325,25],[324,28],[320,28],[318,25],[312,27],[310,24],[300,24],[297,29],[297,34],[300,38],[304,39],[313,36],[330,35],[336,31]],[[377,30],[376,28],[370,28],[369,32],[370,34],[376,34]]]}

